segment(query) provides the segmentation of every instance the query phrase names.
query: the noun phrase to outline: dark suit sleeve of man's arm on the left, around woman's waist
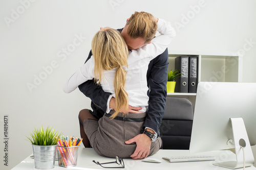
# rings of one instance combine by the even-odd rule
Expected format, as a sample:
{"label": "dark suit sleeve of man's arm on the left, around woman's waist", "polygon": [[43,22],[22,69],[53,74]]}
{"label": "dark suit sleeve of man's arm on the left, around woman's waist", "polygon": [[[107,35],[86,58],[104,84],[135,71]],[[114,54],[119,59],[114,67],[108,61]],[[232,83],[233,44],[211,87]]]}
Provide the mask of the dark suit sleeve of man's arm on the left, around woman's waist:
{"label": "dark suit sleeve of man's arm on the left, around woman's waist", "polygon": [[[91,58],[92,51],[90,51],[86,62]],[[92,102],[104,112],[106,111],[106,103],[111,93],[102,90],[101,86],[98,86],[94,80],[86,81],[78,86],[79,90],[92,100]]]}

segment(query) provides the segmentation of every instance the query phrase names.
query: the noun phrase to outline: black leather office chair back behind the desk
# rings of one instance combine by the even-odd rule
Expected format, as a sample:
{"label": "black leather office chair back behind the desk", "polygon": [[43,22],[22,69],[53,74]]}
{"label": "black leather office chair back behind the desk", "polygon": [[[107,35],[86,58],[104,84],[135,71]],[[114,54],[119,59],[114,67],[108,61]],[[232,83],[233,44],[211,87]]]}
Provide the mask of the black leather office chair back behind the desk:
{"label": "black leather office chair back behind the desk", "polygon": [[191,138],[194,107],[187,98],[166,97],[160,126],[163,149],[188,150]]}

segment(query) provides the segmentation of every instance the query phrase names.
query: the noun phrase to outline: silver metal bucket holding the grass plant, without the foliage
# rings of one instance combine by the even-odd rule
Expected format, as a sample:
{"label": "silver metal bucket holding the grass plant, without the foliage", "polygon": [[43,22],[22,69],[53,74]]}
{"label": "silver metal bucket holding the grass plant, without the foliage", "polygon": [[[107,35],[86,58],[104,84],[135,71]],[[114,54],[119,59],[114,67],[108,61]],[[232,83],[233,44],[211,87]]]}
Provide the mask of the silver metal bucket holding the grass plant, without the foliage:
{"label": "silver metal bucket holding the grass plant, without the foliage", "polygon": [[35,168],[37,169],[54,168],[57,145],[44,146],[44,145],[32,144],[32,147],[33,147],[33,153],[35,156],[35,159],[34,159]]}

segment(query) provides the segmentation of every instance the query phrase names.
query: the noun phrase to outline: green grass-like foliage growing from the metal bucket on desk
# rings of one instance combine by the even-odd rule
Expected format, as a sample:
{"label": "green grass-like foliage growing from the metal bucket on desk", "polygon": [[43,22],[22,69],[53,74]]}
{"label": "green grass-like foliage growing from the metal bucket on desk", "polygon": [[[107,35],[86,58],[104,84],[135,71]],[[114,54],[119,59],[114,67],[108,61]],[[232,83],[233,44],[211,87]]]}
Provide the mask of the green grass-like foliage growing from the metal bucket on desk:
{"label": "green grass-like foliage growing from the metal bucket on desk", "polygon": [[[34,145],[55,145],[57,144],[60,135],[58,131],[55,132],[51,127],[47,127],[46,130],[41,127],[30,132],[30,137],[27,137],[32,144]],[[27,139],[25,139],[27,140]]]}

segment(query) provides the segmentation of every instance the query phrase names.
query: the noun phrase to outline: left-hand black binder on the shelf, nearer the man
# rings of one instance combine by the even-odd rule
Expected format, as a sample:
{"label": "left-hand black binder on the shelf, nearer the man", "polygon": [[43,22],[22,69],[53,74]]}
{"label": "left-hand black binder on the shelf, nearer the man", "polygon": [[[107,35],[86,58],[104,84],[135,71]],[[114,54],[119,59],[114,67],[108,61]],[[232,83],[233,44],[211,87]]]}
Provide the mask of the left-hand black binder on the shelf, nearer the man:
{"label": "left-hand black binder on the shelf, nearer the man", "polygon": [[177,86],[175,92],[188,92],[188,62],[187,56],[175,58],[175,69],[178,69],[181,73],[181,77],[176,81]]}

